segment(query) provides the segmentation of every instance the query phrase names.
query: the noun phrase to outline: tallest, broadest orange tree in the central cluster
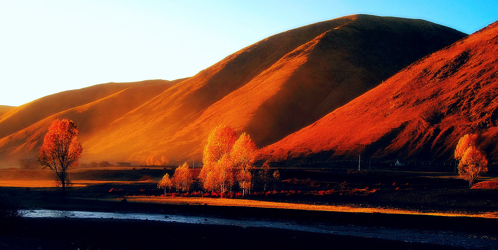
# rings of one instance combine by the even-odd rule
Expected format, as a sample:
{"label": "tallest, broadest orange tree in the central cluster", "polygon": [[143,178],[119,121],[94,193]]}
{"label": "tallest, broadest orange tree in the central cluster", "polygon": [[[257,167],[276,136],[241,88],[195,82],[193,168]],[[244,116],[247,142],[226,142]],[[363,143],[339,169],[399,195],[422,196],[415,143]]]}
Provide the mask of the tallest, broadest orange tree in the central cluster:
{"label": "tallest, broadest orange tree in the central cluster", "polygon": [[[227,190],[225,181],[231,176],[227,171],[230,168],[231,173],[233,167],[230,162],[230,152],[236,139],[235,131],[227,125],[217,126],[209,134],[202,155],[204,166],[199,174],[204,189],[210,191]],[[222,158],[224,158],[223,161],[219,162]],[[228,185],[232,182],[230,181]]]}

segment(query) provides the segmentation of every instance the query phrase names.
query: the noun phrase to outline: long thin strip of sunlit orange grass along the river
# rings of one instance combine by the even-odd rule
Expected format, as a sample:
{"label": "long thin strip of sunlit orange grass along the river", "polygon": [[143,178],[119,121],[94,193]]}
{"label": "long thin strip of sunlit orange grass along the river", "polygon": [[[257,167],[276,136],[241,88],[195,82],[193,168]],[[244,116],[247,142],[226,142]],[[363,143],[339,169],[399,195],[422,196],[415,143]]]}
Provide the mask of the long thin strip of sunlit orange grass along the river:
{"label": "long thin strip of sunlit orange grass along the river", "polygon": [[283,203],[271,201],[255,201],[244,199],[217,199],[217,198],[198,198],[198,197],[144,197],[131,196],[126,197],[128,202],[142,203],[161,203],[177,205],[210,205],[210,206],[235,206],[235,207],[260,207],[260,208],[279,208],[279,209],[301,209],[333,212],[350,212],[350,213],[384,213],[384,214],[417,214],[417,215],[437,215],[437,216],[469,216],[498,218],[498,212],[494,213],[426,213],[402,209],[389,208],[362,208],[351,206],[330,206],[330,205],[308,205],[296,203]]}

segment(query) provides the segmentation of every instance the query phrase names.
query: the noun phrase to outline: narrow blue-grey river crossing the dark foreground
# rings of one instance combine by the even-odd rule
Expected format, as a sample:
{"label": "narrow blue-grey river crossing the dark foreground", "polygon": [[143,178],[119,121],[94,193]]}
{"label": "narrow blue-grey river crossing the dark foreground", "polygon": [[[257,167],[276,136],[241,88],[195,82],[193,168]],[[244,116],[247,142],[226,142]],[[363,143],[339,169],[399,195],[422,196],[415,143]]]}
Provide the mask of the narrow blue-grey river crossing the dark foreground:
{"label": "narrow blue-grey river crossing the dark foreground", "polygon": [[326,233],[334,235],[348,235],[405,242],[431,243],[454,247],[467,247],[474,249],[496,249],[498,239],[496,236],[455,233],[451,231],[431,231],[418,229],[399,229],[385,227],[364,227],[356,225],[337,224],[299,224],[291,221],[265,221],[254,219],[224,219],[207,216],[166,215],[146,213],[118,213],[118,212],[86,212],[86,211],[59,211],[59,210],[23,210],[25,217],[40,218],[114,218],[153,220],[178,223],[232,225],[240,227],[266,227]]}

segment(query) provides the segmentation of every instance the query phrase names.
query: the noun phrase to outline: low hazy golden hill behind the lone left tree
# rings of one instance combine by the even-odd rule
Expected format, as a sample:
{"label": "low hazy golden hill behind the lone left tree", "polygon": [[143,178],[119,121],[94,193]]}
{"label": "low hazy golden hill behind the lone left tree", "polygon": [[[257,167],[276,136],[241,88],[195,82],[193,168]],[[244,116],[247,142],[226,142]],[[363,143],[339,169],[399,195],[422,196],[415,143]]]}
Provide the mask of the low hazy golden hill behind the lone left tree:
{"label": "low hazy golden hill behind the lone left tree", "polygon": [[[183,80],[183,79],[181,79]],[[43,136],[55,119],[74,120],[85,141],[97,129],[109,125],[165,89],[181,81],[148,80],[106,83],[70,90],[9,108],[0,116],[0,161],[16,163],[36,158]]]}

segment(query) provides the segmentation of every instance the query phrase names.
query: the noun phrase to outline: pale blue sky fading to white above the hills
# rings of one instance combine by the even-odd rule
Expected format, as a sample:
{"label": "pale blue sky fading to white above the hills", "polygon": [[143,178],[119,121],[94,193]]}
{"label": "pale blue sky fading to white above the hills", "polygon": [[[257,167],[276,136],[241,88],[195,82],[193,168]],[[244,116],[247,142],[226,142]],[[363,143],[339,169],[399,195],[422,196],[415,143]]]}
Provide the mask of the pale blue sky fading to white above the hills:
{"label": "pale blue sky fading to white above the hills", "polygon": [[0,105],[190,77],[268,36],[358,13],[472,33],[498,20],[498,1],[0,0]]}

